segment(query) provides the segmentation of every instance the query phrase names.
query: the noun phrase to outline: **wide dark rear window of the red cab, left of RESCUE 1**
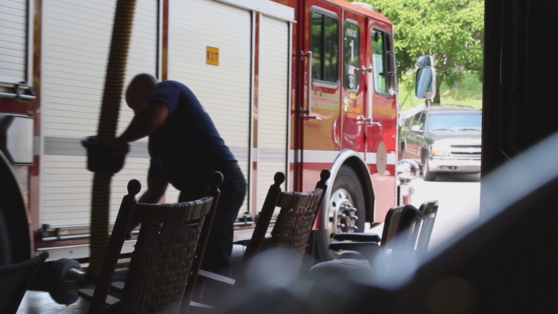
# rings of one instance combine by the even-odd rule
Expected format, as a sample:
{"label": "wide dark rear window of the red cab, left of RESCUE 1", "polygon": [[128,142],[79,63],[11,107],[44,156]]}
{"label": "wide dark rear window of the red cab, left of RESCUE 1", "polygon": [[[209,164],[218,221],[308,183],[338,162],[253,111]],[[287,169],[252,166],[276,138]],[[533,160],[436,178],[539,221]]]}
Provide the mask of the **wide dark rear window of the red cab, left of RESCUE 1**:
{"label": "wide dark rear window of the red cab, left of RESCUE 1", "polygon": [[312,80],[336,84],[339,54],[337,17],[314,9],[311,20]]}

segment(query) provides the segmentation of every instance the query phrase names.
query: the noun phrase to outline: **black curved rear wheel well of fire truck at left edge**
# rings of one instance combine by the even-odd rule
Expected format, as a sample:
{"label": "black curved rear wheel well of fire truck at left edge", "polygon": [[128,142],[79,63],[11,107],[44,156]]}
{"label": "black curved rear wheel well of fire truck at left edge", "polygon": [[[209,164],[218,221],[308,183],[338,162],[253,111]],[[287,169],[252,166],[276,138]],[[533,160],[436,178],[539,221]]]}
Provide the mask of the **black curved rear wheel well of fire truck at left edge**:
{"label": "black curved rear wheel well of fire truck at left edge", "polygon": [[12,166],[1,151],[0,187],[0,207],[9,226],[13,263],[28,260],[33,251],[29,214]]}

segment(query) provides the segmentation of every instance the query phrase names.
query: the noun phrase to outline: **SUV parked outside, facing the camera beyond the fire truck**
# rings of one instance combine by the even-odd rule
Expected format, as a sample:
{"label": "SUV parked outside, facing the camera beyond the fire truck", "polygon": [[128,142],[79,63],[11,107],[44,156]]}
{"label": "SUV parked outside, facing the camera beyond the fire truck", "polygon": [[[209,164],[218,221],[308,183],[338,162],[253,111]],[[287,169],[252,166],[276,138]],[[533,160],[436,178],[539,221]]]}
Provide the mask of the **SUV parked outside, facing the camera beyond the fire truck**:
{"label": "SUV parked outside, facing the camera beyond the fire truck", "polygon": [[401,128],[401,156],[422,165],[426,181],[438,173],[480,173],[482,113],[472,107],[431,104]]}

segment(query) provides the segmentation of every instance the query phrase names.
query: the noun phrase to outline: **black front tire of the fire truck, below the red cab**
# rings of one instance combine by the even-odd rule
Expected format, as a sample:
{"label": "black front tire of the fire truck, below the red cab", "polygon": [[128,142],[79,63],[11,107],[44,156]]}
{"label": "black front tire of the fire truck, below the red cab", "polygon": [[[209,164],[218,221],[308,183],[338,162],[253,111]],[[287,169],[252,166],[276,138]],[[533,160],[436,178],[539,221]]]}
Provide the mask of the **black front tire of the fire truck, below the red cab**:
{"label": "black front tire of the fire truck, below the red cab", "polygon": [[[335,181],[333,183],[333,188],[331,189],[331,196],[333,196],[339,189],[345,189],[348,194],[350,194],[353,200],[353,206],[357,208],[357,212],[355,213],[355,215],[358,216],[358,220],[355,221],[355,225],[358,227],[357,232],[363,232],[364,222],[366,220],[366,212],[364,207],[364,191],[362,189],[362,184],[360,184],[357,173],[348,165],[343,165],[339,169],[339,172],[337,173],[337,176],[335,177]],[[329,208],[329,206],[330,204],[326,204],[326,209]],[[328,215],[328,211],[324,212],[323,214]],[[328,221],[329,226],[329,217],[325,218],[326,221]],[[316,245],[316,258],[320,261],[327,261],[338,258],[339,254],[331,251],[328,248],[330,239],[333,236],[331,234],[331,230],[328,229],[319,231],[321,232],[316,232],[316,239],[314,241],[314,244]]]}

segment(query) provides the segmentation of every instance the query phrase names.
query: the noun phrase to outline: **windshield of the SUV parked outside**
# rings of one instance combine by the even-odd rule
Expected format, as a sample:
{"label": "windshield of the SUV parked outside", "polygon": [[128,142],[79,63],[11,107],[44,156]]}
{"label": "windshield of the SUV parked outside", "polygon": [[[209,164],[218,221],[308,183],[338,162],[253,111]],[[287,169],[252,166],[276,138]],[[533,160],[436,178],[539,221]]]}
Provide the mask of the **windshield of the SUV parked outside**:
{"label": "windshield of the SUV parked outside", "polygon": [[431,113],[426,129],[429,131],[480,131],[482,115],[476,112]]}

